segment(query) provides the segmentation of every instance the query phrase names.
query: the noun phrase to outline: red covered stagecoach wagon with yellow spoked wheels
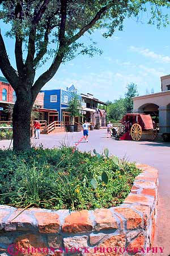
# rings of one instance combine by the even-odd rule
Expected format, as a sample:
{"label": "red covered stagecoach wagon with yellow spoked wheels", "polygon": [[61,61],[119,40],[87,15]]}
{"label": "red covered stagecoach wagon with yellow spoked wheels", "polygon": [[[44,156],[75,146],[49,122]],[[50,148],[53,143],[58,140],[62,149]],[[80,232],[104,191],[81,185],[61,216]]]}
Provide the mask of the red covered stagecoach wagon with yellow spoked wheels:
{"label": "red covered stagecoach wagon with yellow spoked wheels", "polygon": [[121,125],[117,127],[116,135],[120,140],[141,140],[142,135],[146,135],[148,140],[155,140],[157,130],[151,116],[147,114],[126,114]]}

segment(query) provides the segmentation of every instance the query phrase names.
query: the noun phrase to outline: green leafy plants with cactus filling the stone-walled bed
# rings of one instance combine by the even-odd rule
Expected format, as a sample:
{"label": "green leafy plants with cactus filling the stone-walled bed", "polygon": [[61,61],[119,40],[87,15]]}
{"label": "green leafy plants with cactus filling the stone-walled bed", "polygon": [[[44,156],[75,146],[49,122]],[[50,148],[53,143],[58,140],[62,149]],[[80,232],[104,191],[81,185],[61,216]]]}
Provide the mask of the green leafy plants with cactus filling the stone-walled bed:
{"label": "green leafy plants with cactus filling the stone-walled bed", "polygon": [[116,206],[129,194],[139,170],[115,159],[107,150],[96,156],[66,147],[0,150],[0,204],[71,210]]}

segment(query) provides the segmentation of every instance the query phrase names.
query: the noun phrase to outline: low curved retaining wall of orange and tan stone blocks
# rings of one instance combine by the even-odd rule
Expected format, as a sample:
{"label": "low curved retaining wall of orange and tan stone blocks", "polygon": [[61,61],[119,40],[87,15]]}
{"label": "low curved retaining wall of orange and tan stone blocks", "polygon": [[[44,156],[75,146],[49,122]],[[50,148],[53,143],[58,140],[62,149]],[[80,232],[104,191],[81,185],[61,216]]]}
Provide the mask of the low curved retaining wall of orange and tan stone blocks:
{"label": "low curved retaining wall of orange and tan stone blocks", "polygon": [[[31,208],[22,212],[1,205],[0,253],[12,255],[11,244],[15,244],[19,256],[147,255],[155,233],[158,170],[138,167],[142,173],[118,207],[76,212]],[[65,248],[65,253],[54,252],[58,248]]]}

